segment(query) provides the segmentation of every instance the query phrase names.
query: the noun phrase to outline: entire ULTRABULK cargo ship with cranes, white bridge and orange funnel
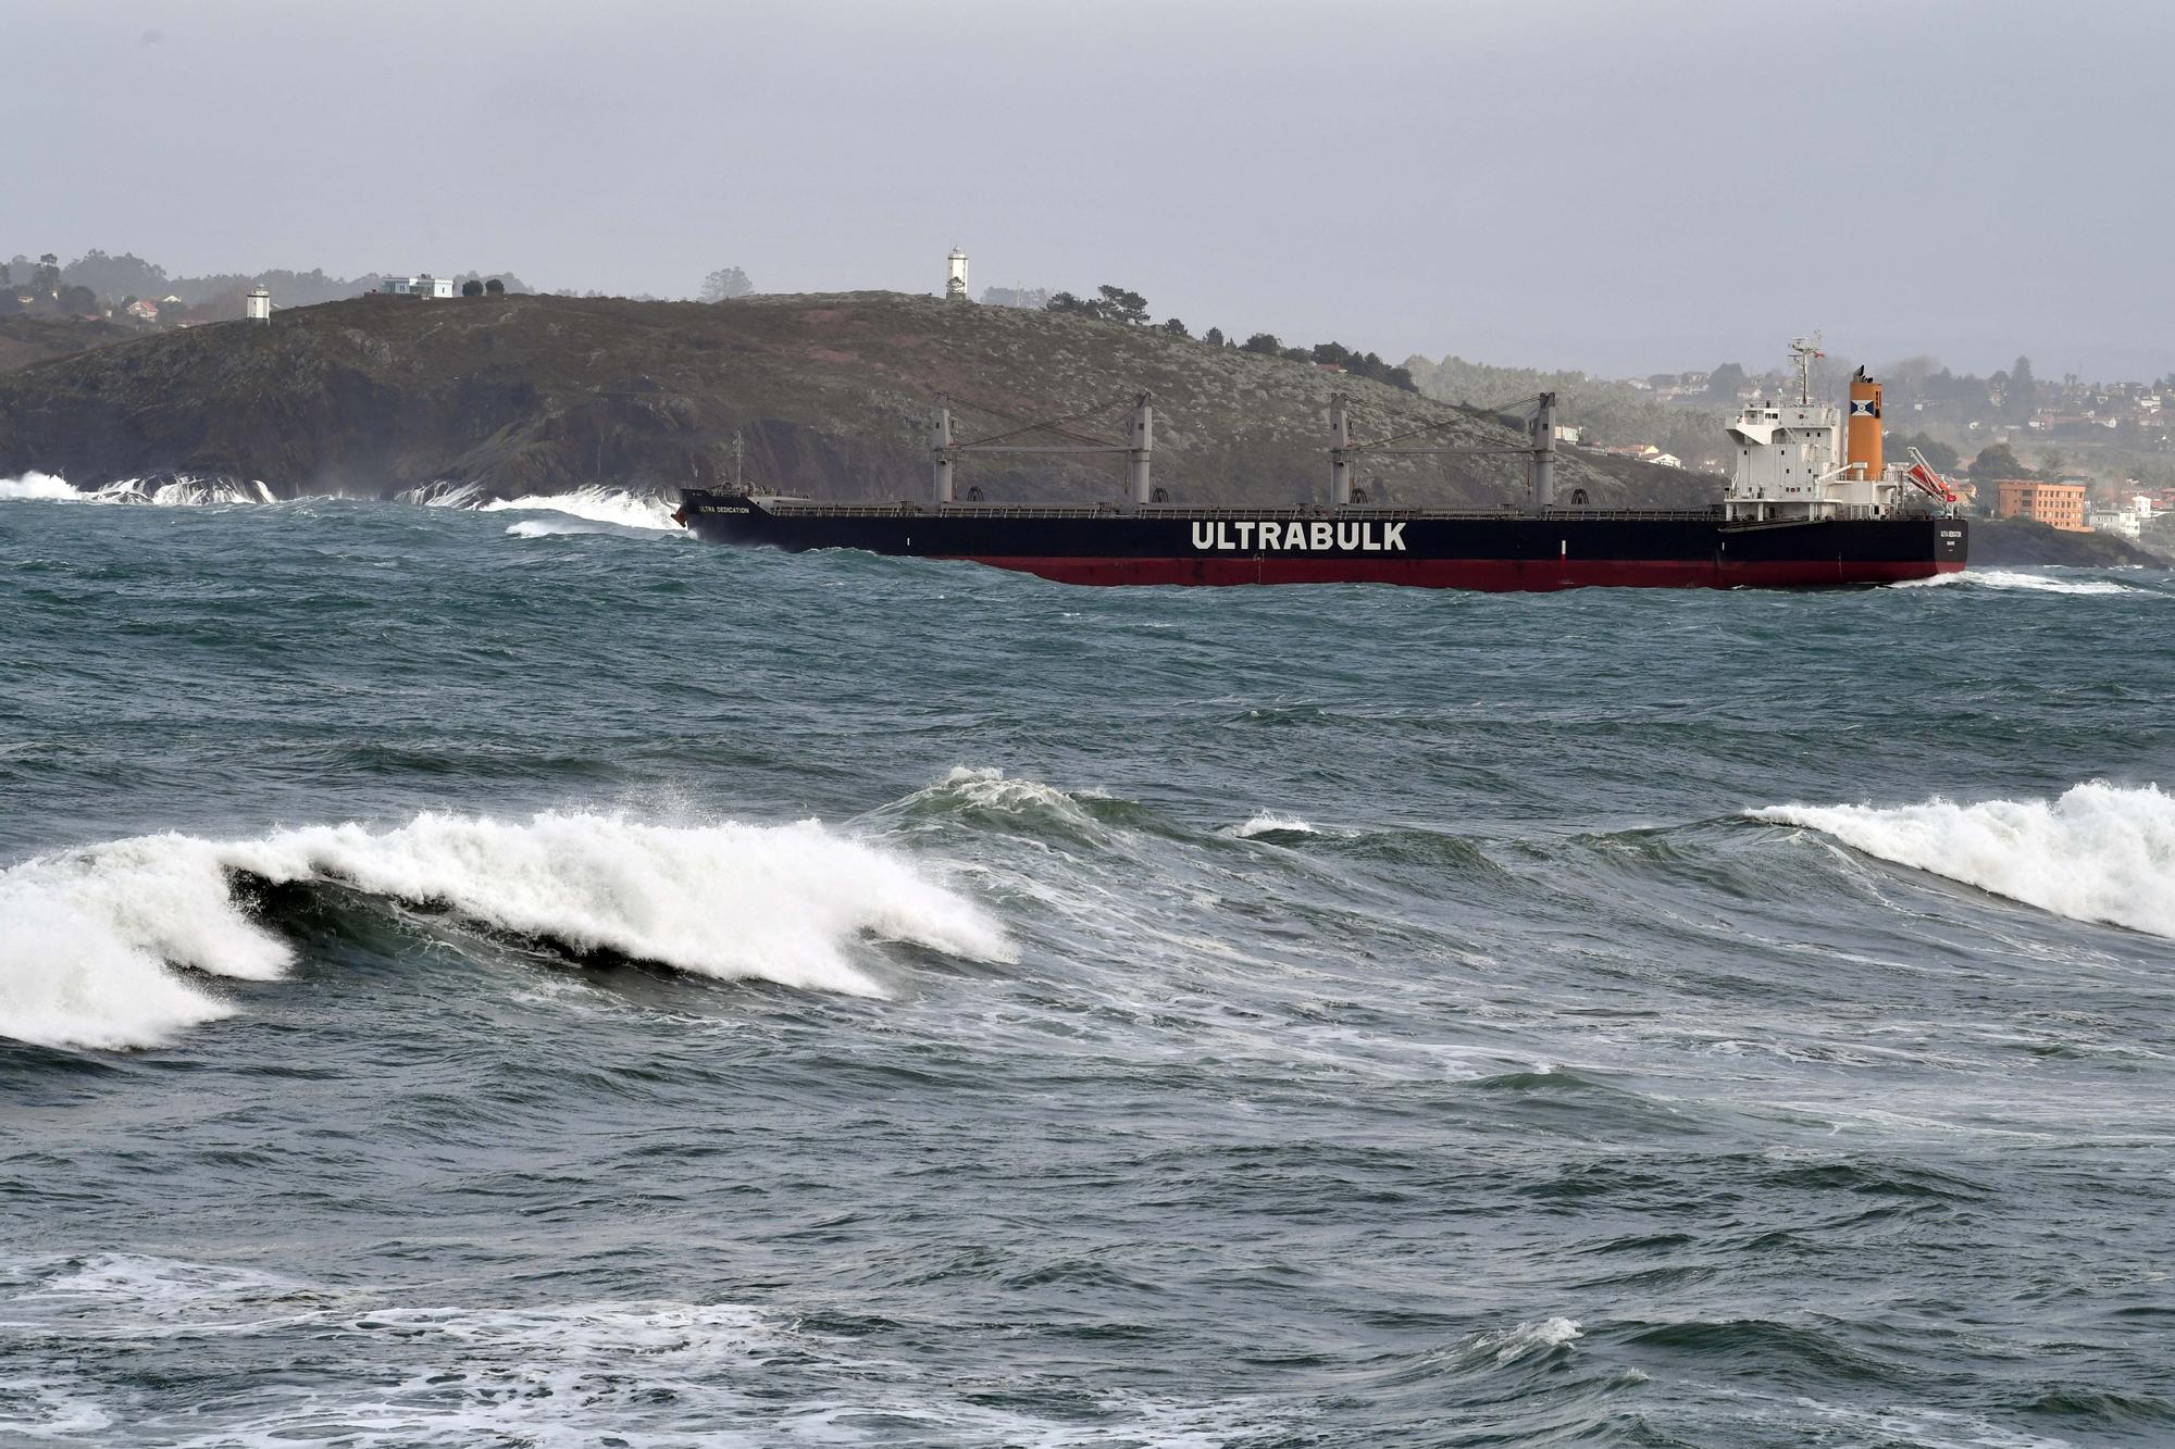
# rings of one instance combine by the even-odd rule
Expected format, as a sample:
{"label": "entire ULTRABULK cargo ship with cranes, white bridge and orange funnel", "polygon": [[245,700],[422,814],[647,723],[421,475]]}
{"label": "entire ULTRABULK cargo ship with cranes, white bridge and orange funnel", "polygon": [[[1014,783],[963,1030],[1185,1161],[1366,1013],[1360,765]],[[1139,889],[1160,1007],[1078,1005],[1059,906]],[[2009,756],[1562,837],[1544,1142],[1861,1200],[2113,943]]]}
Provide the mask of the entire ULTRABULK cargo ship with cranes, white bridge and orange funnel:
{"label": "entire ULTRABULK cargo ship with cranes, white bridge and orange funnel", "polygon": [[[950,413],[933,420],[929,503],[820,503],[731,490],[685,490],[674,518],[718,544],[792,553],[859,548],[1009,568],[1059,583],[1403,583],[1453,590],[1823,587],[1897,583],[1964,568],[1968,524],[1955,492],[1916,453],[1888,463],[1881,385],[1849,385],[1849,413],[1812,400],[1807,342],[1792,346],[1797,400],[1753,400],[1727,426],[1736,466],[1705,509],[1590,505],[1555,498],[1555,398],[1536,400],[1525,507],[1401,509],[1368,505],[1353,485],[1368,444],[1351,442],[1331,407],[1327,505],[1188,507],[1151,485],[1155,413],[1138,398],[1124,444],[1037,450],[1124,453],[1131,500],[1022,505],[959,500]],[[1505,453],[1507,448],[1496,448]],[[1383,450],[1390,453],[1390,450]],[[1449,453],[1435,448],[1429,453]]]}

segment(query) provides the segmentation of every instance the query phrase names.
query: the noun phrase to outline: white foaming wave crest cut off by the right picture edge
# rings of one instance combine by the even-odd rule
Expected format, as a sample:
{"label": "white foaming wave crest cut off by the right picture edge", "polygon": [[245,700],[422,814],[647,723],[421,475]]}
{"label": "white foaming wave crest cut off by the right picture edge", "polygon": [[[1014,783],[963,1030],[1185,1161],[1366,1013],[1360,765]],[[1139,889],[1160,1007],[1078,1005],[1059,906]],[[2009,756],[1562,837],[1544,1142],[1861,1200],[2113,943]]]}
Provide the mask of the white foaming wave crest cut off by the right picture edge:
{"label": "white foaming wave crest cut off by the right picture edge", "polygon": [[1775,805],[1749,814],[1805,825],[1866,855],[2058,916],[2175,936],[2175,796],[2158,785],[2088,781],[2058,801]]}

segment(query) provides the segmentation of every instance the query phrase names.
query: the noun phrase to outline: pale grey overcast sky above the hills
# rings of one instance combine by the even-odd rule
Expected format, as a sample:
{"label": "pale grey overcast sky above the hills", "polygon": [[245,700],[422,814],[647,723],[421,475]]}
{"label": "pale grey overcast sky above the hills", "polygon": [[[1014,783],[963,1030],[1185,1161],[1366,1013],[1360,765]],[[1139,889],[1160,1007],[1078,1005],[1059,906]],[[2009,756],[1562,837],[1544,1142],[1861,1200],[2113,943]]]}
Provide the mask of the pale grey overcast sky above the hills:
{"label": "pale grey overcast sky above the hills", "polygon": [[0,0],[0,248],[2175,370],[2175,4]]}

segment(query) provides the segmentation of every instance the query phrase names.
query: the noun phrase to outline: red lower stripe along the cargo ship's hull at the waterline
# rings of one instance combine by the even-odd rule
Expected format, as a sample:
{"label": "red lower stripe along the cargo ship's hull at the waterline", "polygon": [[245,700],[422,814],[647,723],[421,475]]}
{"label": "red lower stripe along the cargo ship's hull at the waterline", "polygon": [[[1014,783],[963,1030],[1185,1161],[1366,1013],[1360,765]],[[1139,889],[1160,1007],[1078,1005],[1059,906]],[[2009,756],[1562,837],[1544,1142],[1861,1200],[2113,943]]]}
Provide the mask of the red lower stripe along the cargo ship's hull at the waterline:
{"label": "red lower stripe along the cargo ship's hull at the waterline", "polygon": [[1714,564],[1688,559],[1105,559],[1105,557],[961,557],[1057,583],[1405,583],[1427,590],[1483,590],[1492,594],[1579,587],[1820,587],[1838,583],[1897,583],[1960,572],[1962,564],[1934,559],[1783,559]]}

